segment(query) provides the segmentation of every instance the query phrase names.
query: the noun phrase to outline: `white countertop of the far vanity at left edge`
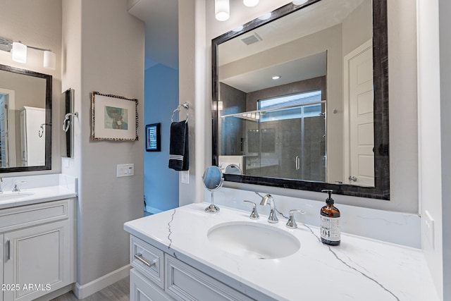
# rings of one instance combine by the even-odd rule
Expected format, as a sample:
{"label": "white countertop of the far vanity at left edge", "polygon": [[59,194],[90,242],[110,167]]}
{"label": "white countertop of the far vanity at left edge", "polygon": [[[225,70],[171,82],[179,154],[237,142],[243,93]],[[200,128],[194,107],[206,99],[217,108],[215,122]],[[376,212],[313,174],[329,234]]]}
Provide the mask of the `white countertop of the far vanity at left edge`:
{"label": "white countertop of the far vanity at left edge", "polygon": [[4,191],[0,193],[0,209],[51,202],[76,196],[77,193],[61,185],[22,189],[20,192]]}

